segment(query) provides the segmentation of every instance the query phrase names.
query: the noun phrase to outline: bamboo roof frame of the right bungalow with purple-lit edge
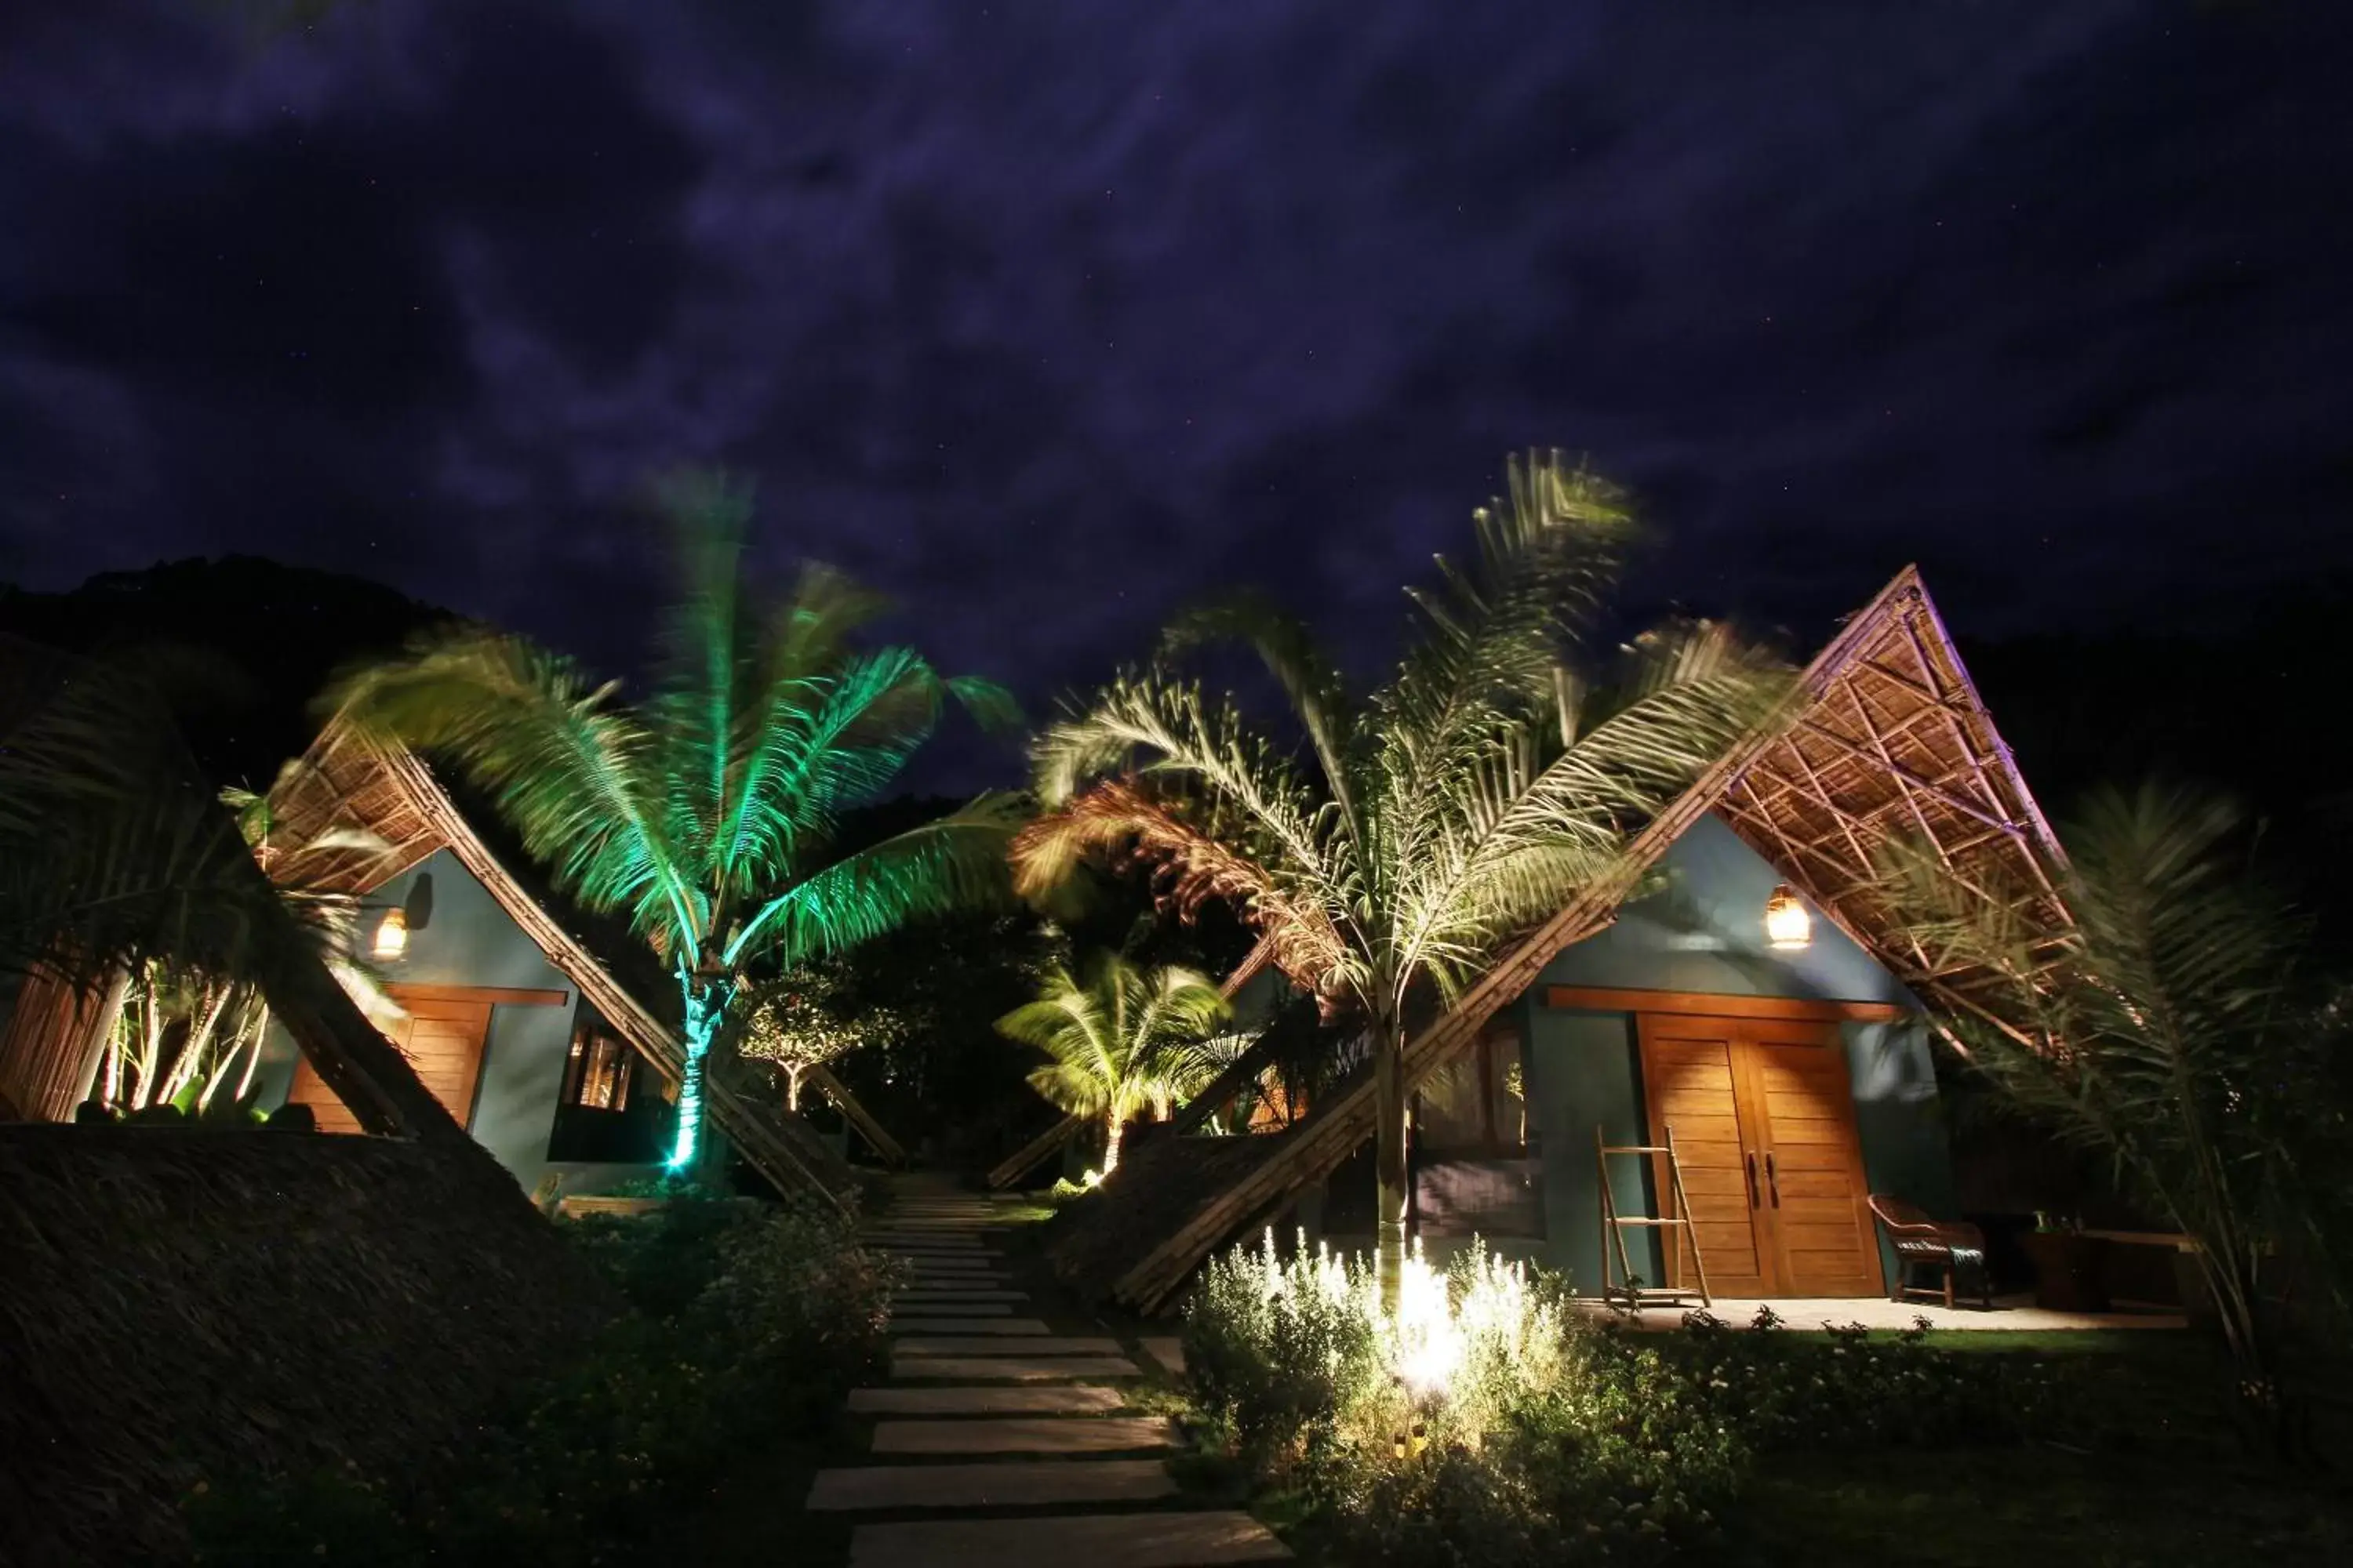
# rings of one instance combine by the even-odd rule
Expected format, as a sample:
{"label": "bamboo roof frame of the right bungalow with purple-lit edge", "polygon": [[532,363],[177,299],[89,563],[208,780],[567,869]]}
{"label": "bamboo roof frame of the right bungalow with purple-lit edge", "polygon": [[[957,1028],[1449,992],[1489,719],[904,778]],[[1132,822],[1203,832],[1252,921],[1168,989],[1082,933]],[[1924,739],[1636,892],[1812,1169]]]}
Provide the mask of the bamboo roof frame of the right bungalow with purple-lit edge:
{"label": "bamboo roof frame of the right bungalow with purple-lit edge", "polygon": [[[1711,811],[1915,997],[2019,1032],[2002,1018],[1991,976],[1939,971],[1901,936],[1873,863],[1878,846],[1911,837],[1965,886],[2035,889],[2028,914],[2052,943],[2064,940],[2071,924],[2052,875],[2064,865],[2059,842],[1993,726],[1920,569],[1904,567],[1814,656],[1781,712],[1652,818],[1609,877],[1511,947],[1449,1013],[1407,1041],[1407,1091],[1466,1051],[1555,954],[1607,929],[1668,844]],[[1280,1143],[1271,1140],[1268,1159],[1212,1194],[1111,1293],[1139,1312],[1155,1312],[1214,1246],[1327,1178],[1372,1131],[1367,1074]]]}

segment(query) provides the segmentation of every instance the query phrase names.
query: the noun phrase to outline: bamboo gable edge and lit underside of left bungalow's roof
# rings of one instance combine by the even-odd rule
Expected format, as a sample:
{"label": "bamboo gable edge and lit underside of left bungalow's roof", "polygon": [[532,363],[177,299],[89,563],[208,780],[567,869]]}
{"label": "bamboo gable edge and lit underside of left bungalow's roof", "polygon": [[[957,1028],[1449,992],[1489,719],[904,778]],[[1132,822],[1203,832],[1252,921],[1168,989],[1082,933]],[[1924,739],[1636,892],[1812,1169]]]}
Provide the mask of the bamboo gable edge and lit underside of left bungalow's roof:
{"label": "bamboo gable edge and lit underside of left bungalow's roof", "polygon": [[[367,736],[341,715],[329,719],[304,752],[301,766],[289,769],[271,790],[271,818],[256,856],[273,877],[299,877],[308,886],[353,898],[365,898],[447,849],[638,1056],[673,1084],[685,1074],[678,1034],[515,879],[409,748]],[[381,846],[322,842],[334,827],[362,827]],[[885,1157],[899,1152],[904,1159],[904,1150],[856,1105],[847,1084],[824,1074],[824,1088]],[[819,1192],[849,1213],[849,1199],[795,1152],[793,1135],[779,1121],[781,1107],[741,1074],[727,1072],[718,1056],[704,1074],[704,1098],[713,1124],[779,1192]]]}

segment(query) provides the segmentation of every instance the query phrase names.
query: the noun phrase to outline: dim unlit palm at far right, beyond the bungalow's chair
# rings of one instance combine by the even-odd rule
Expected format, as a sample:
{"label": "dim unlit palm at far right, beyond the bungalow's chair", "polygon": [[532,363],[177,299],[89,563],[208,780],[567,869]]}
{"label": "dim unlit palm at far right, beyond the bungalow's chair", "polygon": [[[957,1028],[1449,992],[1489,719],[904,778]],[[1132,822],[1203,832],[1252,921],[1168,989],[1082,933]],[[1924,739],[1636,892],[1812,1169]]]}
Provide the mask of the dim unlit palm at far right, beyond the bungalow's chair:
{"label": "dim unlit palm at far right, beyond the bungalow's chair", "polygon": [[1965,886],[1925,849],[1892,853],[1889,905],[1915,912],[1934,969],[1993,978],[2009,1027],[1946,1018],[1969,1070],[2198,1241],[2247,1410],[2292,1441],[2282,1272],[2334,1262],[2344,1237],[2344,1011],[2311,990],[2311,924],[2249,865],[2247,823],[2221,799],[2104,792],[2061,844],[2057,947],[2031,889],[1988,886],[1984,867]]}

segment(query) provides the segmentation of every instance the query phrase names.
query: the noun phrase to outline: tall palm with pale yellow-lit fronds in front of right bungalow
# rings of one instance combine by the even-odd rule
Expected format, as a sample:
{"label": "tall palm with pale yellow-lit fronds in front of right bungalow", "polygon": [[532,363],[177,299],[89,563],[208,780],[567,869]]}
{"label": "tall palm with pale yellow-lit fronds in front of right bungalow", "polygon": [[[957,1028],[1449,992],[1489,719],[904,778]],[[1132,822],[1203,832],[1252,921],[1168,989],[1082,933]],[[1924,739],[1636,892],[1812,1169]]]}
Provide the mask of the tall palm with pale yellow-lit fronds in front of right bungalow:
{"label": "tall palm with pale yellow-lit fronds in front of right bungalow", "polygon": [[[1398,675],[1355,696],[1306,628],[1261,602],[1181,621],[1035,745],[1054,811],[1016,844],[1024,884],[1087,851],[1160,863],[1179,910],[1231,900],[1297,983],[1372,1037],[1384,1293],[1405,1262],[1405,1027],[1497,947],[1621,865],[1631,832],[1769,710],[1781,679],[1713,628],[1654,632],[1617,682],[1572,672],[1631,522],[1555,456],[1511,465],[1475,512],[1478,559],[1414,592]],[[1202,637],[1252,646],[1306,757],[1169,668]]]}

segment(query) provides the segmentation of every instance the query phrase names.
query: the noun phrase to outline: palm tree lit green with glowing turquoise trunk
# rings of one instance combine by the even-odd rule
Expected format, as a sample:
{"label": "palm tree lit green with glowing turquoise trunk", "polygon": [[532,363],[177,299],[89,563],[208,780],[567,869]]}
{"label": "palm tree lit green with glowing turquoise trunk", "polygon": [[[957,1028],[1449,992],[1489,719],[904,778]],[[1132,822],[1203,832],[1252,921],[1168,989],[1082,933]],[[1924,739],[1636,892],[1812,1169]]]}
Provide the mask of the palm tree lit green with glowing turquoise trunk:
{"label": "palm tree lit green with glowing turquoise trunk", "polygon": [[899,776],[948,698],[988,724],[1012,701],[936,675],[913,649],[859,646],[880,599],[826,567],[760,604],[739,571],[748,489],[689,475],[659,498],[685,581],[645,701],[619,703],[572,661],[471,628],[348,677],[332,701],[362,729],[456,762],[562,891],[626,912],[673,971],[685,1074],[668,1166],[685,1171],[744,966],[788,969],[986,896],[1016,818],[981,797],[838,853],[842,813]]}

